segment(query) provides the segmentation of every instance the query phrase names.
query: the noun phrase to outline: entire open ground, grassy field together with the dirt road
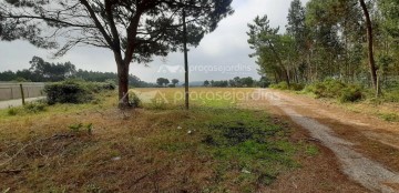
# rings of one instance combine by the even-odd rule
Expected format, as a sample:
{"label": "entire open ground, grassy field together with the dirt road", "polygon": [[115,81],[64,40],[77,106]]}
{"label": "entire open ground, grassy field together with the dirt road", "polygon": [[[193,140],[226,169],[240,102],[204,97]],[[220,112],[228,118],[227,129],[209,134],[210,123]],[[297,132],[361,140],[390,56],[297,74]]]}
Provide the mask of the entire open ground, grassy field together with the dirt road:
{"label": "entire open ground, grassy field together with the dirt road", "polygon": [[119,110],[116,93],[105,92],[86,104],[0,110],[0,191],[398,189],[398,123],[350,105],[275,90],[195,88],[186,111],[181,88],[131,92],[142,108]]}

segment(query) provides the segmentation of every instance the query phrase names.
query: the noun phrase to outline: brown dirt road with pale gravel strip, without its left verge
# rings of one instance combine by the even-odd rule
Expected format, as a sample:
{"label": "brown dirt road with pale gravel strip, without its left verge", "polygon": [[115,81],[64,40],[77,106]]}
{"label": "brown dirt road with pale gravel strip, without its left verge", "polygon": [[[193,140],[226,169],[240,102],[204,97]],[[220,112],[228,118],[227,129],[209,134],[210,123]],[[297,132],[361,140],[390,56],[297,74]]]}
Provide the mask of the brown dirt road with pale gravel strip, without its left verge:
{"label": "brown dirt road with pale gravel strip, without its left verge", "polygon": [[[399,124],[354,113],[304,95],[256,90],[309,135],[330,149],[341,171],[371,192],[399,192]],[[254,108],[254,106],[253,106]]]}

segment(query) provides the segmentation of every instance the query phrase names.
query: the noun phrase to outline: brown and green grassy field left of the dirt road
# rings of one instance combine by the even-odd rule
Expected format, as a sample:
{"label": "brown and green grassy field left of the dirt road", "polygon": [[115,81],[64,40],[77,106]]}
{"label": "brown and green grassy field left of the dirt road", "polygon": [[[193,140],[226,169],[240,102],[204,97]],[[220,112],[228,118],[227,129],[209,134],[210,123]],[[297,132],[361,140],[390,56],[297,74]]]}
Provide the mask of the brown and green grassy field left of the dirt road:
{"label": "brown and green grassy field left of the dirt road", "polygon": [[193,89],[190,111],[182,89],[132,90],[144,101],[135,110],[117,110],[111,92],[90,104],[1,110],[0,192],[267,189],[317,148],[293,142],[267,112],[237,108],[252,91]]}

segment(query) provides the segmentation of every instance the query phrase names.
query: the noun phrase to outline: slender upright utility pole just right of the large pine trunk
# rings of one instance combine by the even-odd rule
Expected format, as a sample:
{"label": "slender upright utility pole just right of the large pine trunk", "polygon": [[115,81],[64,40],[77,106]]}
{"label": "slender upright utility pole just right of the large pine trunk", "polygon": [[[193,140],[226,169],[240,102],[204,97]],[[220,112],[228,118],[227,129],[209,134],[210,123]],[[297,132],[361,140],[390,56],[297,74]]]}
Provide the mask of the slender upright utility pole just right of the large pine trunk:
{"label": "slender upright utility pole just right of the large pine trunk", "polygon": [[186,26],[186,12],[185,4],[183,7],[183,49],[184,49],[184,82],[185,82],[185,109],[190,109],[190,91],[188,91],[188,55],[187,55],[187,26]]}

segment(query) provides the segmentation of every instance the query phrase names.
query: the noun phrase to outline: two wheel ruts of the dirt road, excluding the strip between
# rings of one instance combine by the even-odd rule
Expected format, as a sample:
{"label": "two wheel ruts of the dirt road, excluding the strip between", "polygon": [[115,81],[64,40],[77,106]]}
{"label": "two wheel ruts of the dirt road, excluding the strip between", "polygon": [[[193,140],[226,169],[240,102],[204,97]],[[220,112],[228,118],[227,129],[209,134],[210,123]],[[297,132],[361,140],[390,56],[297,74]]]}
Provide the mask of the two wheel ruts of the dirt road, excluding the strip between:
{"label": "two wheel ruts of the dirt road, excluding the strip between", "polygon": [[[337,114],[337,112],[330,112],[315,103],[307,103],[306,101],[295,99],[293,95],[274,90],[256,90],[255,92],[263,95],[263,99],[268,100],[272,105],[280,109],[296,124],[306,129],[313,138],[330,149],[339,160],[341,170],[349,179],[374,192],[399,192],[399,174],[397,171],[392,171],[386,165],[359,153],[354,149],[352,142],[340,138],[334,132],[335,125],[320,123],[313,116],[316,113],[317,116],[323,116],[324,119],[337,119],[335,121],[347,122],[360,128],[360,130],[362,126],[372,124],[372,120],[370,120],[371,123],[361,120],[346,120]],[[399,141],[396,140],[398,139],[396,138],[397,135],[388,135],[387,138],[387,133],[379,134],[378,130],[370,132],[369,129],[364,132],[367,132],[365,135],[374,138],[383,144],[397,148]],[[385,141],[386,139],[387,141]]]}

